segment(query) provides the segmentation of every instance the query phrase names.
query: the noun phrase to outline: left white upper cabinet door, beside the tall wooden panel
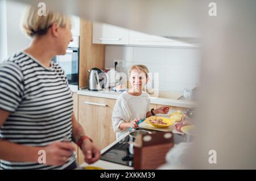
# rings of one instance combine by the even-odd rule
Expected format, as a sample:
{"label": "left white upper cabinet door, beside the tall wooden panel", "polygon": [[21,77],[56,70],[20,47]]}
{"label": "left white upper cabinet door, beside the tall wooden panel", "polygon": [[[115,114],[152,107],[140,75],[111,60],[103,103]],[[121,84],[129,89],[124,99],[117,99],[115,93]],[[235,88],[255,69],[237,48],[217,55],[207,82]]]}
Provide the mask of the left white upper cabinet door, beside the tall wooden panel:
{"label": "left white upper cabinet door, beside the tall wooden panel", "polygon": [[119,44],[129,43],[129,30],[104,23],[93,23],[94,44]]}

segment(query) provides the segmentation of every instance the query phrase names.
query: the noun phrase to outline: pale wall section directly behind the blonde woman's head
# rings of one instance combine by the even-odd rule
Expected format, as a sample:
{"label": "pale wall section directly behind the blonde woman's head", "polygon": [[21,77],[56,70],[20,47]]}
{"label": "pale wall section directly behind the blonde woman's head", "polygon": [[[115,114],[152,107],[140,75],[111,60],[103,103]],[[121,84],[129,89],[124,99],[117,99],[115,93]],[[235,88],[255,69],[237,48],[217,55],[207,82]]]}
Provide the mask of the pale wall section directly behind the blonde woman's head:
{"label": "pale wall section directly behind the blonde woman's head", "polygon": [[30,43],[20,28],[20,20],[26,5],[13,1],[6,1],[7,22],[7,56],[11,56],[18,50],[22,50]]}

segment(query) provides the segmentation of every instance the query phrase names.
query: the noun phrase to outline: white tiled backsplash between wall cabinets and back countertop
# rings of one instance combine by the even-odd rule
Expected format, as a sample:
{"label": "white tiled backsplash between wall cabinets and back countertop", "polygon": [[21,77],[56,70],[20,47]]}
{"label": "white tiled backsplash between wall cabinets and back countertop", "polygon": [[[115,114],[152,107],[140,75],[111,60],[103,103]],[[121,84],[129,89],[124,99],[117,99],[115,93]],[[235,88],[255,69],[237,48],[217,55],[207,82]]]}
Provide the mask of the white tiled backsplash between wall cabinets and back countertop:
{"label": "white tiled backsplash between wall cabinets and back countertop", "polygon": [[146,65],[151,73],[159,73],[160,90],[183,91],[199,83],[199,49],[106,45],[105,60],[106,69],[114,68],[113,60],[122,60],[127,75],[131,65]]}

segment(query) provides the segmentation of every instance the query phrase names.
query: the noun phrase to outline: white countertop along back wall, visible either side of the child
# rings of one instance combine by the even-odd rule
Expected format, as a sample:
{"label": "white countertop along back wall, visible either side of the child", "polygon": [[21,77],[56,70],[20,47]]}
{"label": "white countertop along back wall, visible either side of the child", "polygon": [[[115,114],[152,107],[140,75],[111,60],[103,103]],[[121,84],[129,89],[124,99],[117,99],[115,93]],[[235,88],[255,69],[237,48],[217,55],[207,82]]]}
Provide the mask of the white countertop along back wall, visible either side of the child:
{"label": "white countertop along back wall, visible either side of the child", "polygon": [[[78,90],[77,94],[79,95],[88,95],[88,96],[96,96],[99,98],[108,98],[108,99],[117,99],[118,96],[122,92],[116,91],[89,91],[88,89]],[[168,91],[168,94],[175,95],[176,92]],[[159,97],[150,97],[151,104],[162,104],[167,106],[176,106],[176,107],[185,107],[185,108],[192,108],[196,106],[196,102],[193,100],[184,100],[184,99],[168,99],[168,98],[159,98]]]}

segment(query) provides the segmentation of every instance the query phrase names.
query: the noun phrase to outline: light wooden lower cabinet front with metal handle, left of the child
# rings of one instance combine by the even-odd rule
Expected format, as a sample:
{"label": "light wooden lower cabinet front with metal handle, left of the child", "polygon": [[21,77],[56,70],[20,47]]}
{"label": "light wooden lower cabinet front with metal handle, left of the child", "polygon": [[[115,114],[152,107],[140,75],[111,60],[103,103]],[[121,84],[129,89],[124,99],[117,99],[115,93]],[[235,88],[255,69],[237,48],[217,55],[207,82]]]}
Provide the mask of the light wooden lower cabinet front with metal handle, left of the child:
{"label": "light wooden lower cabinet front with metal handle, left of the child", "polygon": [[[112,111],[115,99],[79,95],[79,123],[85,134],[92,138],[98,148],[103,149],[115,141],[112,127]],[[79,164],[84,156],[79,149]]]}

